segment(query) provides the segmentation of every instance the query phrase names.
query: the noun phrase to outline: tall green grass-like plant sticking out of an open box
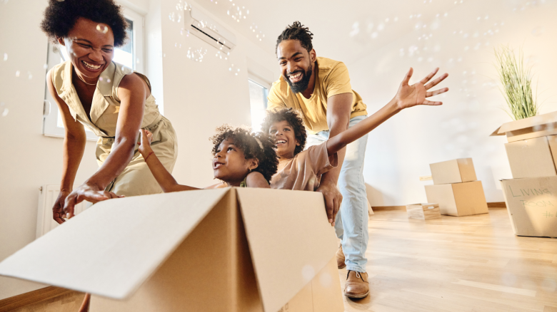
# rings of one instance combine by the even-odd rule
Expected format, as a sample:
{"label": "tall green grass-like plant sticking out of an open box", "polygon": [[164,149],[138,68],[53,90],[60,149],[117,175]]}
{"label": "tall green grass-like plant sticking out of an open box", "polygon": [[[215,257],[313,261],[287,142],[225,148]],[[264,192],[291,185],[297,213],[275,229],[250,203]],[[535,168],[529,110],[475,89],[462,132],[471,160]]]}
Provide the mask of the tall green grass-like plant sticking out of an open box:
{"label": "tall green grass-like plant sticking out of an open box", "polygon": [[532,95],[531,68],[524,66],[522,48],[518,51],[518,59],[508,46],[495,49],[496,68],[503,83],[503,96],[507,101],[508,115],[513,120],[538,115],[539,106]]}

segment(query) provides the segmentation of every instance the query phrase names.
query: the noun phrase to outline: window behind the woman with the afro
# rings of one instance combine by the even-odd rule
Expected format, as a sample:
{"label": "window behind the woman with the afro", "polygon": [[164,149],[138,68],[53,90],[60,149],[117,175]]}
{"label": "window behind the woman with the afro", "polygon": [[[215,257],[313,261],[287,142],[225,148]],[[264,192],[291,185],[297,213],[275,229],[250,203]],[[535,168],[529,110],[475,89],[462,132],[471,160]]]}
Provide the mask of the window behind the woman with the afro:
{"label": "window behind the woman with the afro", "polygon": [[[126,29],[129,40],[126,45],[114,49],[114,61],[143,73],[143,17],[129,9],[124,9],[124,17],[129,24]],[[49,43],[46,71],[67,59],[66,48]],[[85,130],[87,140],[97,140],[89,128],[85,127]],[[43,134],[49,137],[64,137],[64,123],[48,88],[44,100]]]}

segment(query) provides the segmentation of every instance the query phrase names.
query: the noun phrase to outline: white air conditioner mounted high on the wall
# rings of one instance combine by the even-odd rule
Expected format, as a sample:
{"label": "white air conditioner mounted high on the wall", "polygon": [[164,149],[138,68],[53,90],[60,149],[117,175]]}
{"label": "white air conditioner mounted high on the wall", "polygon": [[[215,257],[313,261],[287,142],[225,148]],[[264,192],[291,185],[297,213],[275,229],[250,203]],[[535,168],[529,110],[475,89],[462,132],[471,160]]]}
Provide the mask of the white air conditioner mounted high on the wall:
{"label": "white air conditioner mounted high on the wall", "polygon": [[199,9],[191,6],[184,11],[185,28],[206,43],[211,44],[219,51],[228,53],[236,47],[236,36],[224,26],[213,21]]}

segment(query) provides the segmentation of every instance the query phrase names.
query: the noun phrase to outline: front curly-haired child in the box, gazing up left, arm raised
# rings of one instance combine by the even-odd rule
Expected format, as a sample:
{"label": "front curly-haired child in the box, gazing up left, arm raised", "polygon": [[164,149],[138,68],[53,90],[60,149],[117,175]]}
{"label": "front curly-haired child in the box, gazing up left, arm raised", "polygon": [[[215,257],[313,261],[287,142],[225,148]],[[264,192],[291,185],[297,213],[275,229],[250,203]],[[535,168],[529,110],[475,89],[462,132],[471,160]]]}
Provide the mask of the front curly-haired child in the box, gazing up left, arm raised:
{"label": "front curly-haired child in the box, gazing up left, arm raised", "polygon": [[[214,144],[213,172],[214,177],[222,182],[205,189],[269,188],[269,182],[278,165],[274,139],[265,133],[252,134],[249,128],[234,128],[230,125],[222,125],[216,128],[216,132],[210,139]],[[151,133],[141,130],[139,152],[165,193],[198,189],[178,184],[151,150],[150,142]]]}

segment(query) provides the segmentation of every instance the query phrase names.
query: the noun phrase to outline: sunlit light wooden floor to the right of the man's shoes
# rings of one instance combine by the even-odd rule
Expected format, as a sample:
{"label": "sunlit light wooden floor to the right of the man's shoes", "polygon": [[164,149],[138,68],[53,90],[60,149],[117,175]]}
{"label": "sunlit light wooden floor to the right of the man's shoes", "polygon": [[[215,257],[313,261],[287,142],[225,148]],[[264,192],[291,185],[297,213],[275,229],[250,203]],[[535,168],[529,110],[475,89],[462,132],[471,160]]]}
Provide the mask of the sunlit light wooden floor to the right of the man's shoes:
{"label": "sunlit light wooden floor to the right of the man's shoes", "polygon": [[515,236],[506,209],[428,221],[378,211],[369,237],[370,295],[345,297],[348,312],[557,312],[557,239]]}

